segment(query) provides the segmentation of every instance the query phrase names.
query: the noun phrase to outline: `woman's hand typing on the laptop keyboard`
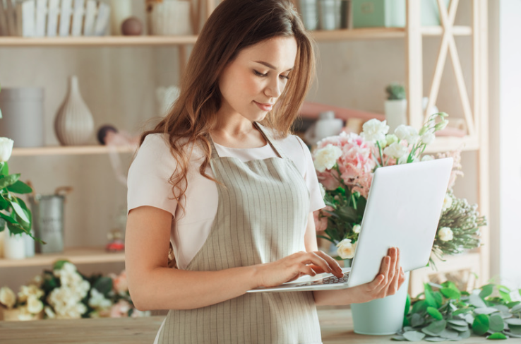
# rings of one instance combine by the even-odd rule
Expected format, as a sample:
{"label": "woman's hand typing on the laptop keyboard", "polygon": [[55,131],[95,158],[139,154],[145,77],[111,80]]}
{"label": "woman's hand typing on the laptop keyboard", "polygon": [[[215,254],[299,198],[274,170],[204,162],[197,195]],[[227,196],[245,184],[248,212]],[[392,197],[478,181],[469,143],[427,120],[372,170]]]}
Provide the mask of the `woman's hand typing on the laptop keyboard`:
{"label": "woman's hand typing on the laptop keyboard", "polygon": [[285,258],[255,266],[259,287],[276,287],[296,280],[301,275],[314,276],[317,273],[333,273],[341,278],[342,268],[323,251],[297,252]]}

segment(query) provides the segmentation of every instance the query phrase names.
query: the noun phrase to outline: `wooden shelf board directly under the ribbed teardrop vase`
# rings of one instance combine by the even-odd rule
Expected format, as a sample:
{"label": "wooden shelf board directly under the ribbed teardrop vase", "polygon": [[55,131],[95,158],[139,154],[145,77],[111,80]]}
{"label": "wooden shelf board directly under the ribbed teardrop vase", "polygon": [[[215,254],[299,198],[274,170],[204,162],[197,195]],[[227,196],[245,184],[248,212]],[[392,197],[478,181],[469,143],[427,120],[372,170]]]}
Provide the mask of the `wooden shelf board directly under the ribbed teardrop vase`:
{"label": "wooden shelf board directly under the ribbed teardrop vase", "polygon": [[[136,147],[119,146],[113,148],[117,153],[134,153]],[[38,155],[85,155],[108,154],[107,146],[51,146],[35,148],[13,148],[12,156],[38,156]]]}

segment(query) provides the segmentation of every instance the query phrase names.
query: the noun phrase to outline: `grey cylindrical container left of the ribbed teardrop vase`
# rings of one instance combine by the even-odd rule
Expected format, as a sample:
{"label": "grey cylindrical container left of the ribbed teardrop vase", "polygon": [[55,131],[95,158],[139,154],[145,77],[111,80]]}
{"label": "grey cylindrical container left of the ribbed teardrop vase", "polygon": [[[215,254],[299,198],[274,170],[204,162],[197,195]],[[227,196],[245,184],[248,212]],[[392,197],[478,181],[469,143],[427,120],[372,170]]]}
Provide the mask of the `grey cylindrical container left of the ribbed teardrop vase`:
{"label": "grey cylindrical container left of the ribbed teardrop vase", "polygon": [[16,142],[16,147],[44,146],[43,88],[3,88],[0,92],[0,136]]}

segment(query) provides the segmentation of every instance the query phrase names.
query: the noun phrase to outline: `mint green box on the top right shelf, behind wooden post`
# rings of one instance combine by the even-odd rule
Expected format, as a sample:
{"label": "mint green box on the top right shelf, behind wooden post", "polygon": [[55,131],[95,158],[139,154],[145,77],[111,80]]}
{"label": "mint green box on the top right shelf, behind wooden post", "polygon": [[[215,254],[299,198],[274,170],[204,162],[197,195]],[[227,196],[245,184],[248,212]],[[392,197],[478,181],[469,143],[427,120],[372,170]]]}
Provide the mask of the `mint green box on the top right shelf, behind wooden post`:
{"label": "mint green box on the top right shelf, behind wooden post", "polygon": [[[443,0],[448,5],[450,0]],[[352,0],[354,28],[404,28],[405,0]],[[438,1],[421,0],[421,25],[440,25]]]}

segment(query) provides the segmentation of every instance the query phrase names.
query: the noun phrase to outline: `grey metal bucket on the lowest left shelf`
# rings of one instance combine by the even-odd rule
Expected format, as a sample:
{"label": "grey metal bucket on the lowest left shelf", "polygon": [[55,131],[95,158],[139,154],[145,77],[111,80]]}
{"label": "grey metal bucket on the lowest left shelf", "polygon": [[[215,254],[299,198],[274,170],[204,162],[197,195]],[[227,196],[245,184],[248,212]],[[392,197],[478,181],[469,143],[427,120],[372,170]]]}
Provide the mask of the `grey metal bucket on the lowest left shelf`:
{"label": "grey metal bucket on the lowest left shelf", "polygon": [[46,242],[37,244],[38,253],[64,251],[64,203],[71,191],[71,186],[61,186],[51,195],[31,193],[29,196],[35,235]]}

